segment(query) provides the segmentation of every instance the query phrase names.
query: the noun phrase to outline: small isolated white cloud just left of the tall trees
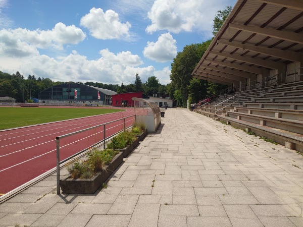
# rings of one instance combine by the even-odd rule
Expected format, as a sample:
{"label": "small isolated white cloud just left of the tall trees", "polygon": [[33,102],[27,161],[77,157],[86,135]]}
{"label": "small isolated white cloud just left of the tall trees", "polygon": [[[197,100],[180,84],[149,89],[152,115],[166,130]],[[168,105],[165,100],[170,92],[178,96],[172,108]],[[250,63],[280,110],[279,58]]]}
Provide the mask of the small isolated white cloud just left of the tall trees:
{"label": "small isolated white cloud just left of the tall trees", "polygon": [[147,42],[143,54],[156,62],[172,61],[177,55],[176,40],[170,33],[162,34],[157,42]]}

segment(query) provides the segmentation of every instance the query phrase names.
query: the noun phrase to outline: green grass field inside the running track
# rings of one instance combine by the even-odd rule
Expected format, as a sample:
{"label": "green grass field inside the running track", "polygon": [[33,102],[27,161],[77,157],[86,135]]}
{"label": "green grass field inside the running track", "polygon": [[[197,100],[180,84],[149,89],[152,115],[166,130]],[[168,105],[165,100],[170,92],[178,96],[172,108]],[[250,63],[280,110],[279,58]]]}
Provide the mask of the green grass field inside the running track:
{"label": "green grass field inside the running track", "polygon": [[123,110],[104,108],[0,107],[0,130],[119,111]]}

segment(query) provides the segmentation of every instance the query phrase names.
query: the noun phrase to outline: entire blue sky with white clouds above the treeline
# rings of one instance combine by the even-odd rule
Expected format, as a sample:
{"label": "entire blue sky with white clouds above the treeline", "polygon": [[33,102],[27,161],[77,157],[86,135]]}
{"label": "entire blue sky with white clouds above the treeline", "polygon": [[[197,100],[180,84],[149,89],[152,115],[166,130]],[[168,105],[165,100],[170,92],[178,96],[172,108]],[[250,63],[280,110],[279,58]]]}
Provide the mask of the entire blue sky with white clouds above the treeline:
{"label": "entire blue sky with white clouds above the treeline", "polygon": [[170,83],[186,45],[236,0],[0,0],[0,71],[53,81]]}

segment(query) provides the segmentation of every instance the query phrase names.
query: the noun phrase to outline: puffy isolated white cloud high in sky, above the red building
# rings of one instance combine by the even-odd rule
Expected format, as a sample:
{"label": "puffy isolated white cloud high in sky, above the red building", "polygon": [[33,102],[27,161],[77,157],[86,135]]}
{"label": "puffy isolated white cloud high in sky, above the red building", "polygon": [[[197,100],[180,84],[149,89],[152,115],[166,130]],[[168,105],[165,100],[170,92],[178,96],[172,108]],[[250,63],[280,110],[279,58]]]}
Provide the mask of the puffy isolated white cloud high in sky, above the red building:
{"label": "puffy isolated white cloud high in sky, above the red building", "polygon": [[81,18],[80,25],[89,30],[97,39],[125,39],[129,38],[129,22],[121,23],[119,15],[113,10],[92,8],[89,14]]}

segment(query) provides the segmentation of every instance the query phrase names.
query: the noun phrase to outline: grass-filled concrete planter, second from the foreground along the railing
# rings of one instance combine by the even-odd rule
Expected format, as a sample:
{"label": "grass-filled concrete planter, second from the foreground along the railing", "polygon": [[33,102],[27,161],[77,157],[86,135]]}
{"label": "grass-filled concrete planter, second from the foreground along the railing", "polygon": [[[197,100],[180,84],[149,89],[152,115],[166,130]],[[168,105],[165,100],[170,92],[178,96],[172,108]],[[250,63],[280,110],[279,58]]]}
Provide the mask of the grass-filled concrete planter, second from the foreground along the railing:
{"label": "grass-filled concrete planter, second from the foreground along the railing", "polygon": [[124,157],[126,157],[138,144],[138,138],[131,131],[124,131],[107,143],[107,147],[123,151]]}

